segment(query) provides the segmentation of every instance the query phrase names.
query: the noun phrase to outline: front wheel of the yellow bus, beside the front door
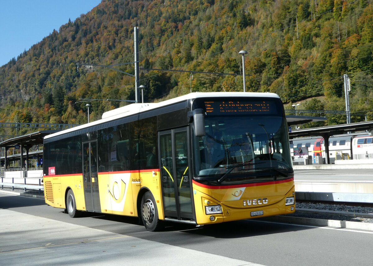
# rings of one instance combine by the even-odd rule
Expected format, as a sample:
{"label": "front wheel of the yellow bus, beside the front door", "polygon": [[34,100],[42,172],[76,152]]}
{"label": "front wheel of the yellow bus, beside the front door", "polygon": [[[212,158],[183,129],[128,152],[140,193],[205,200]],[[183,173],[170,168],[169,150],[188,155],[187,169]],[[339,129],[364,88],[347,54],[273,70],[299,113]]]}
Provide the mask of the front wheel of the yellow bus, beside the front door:
{"label": "front wheel of the yellow bus, beside the front door", "polygon": [[157,204],[149,191],[142,196],[140,213],[142,222],[148,231],[154,232],[160,229]]}

